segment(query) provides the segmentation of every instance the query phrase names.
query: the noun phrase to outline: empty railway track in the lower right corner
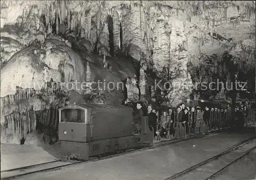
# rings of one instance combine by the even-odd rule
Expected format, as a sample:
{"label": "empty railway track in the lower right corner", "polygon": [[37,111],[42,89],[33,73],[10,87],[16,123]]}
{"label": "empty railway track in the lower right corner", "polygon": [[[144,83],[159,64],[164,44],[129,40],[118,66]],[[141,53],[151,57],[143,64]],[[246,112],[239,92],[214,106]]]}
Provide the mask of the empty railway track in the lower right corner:
{"label": "empty railway track in the lower right corner", "polygon": [[164,180],[204,179],[209,180],[256,149],[256,137],[242,143]]}

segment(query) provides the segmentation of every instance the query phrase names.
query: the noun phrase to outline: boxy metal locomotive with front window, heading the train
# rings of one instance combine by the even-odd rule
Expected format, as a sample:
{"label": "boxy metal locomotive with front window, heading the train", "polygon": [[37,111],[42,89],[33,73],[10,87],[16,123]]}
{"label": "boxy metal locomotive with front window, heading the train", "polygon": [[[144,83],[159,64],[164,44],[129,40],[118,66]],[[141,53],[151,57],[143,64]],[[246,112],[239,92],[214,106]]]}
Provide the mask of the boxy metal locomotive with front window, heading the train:
{"label": "boxy metal locomotive with front window, heading the train", "polygon": [[132,121],[132,108],[124,105],[74,103],[62,107],[58,132],[61,156],[87,161],[91,156],[141,147],[148,131],[147,117],[142,118],[138,135],[133,134]]}

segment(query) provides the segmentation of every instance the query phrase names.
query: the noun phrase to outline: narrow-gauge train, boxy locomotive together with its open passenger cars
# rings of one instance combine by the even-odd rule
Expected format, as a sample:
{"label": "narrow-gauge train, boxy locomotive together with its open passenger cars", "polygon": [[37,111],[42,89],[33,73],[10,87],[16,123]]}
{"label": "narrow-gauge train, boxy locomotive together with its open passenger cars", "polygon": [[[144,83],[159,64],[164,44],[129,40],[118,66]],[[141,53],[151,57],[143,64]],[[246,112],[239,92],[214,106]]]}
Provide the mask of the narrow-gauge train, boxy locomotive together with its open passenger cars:
{"label": "narrow-gauge train, boxy locomotive together with its open passenger cars", "polygon": [[[202,104],[201,104],[202,105]],[[175,137],[186,139],[186,129],[178,122],[174,113],[173,127]],[[172,117],[172,116],[171,116]],[[195,117],[195,119],[197,119]],[[198,119],[200,121],[200,119]],[[249,110],[246,124],[255,122],[255,112]],[[169,122],[170,122],[169,121]],[[222,115],[221,111],[210,111],[209,121],[201,119],[199,134],[207,134],[216,127],[231,127],[237,121],[234,110]],[[59,141],[61,156],[72,156],[78,160],[89,160],[91,156],[139,148],[143,145],[154,146],[154,133],[148,127],[147,117],[142,117],[140,134],[133,134],[132,108],[124,105],[71,104],[59,109]],[[168,131],[169,122],[165,125]],[[160,122],[158,121],[158,125]],[[189,116],[188,128],[191,129]],[[153,129],[153,128],[152,128]],[[159,130],[159,129],[158,129]],[[190,135],[190,130],[188,136]]]}

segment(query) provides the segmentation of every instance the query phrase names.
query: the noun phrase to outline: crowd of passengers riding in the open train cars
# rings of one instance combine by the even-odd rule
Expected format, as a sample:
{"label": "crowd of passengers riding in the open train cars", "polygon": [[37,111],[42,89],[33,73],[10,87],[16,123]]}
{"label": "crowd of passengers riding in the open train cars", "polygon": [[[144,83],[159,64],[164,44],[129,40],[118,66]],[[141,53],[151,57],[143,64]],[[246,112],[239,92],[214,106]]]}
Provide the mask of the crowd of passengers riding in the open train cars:
{"label": "crowd of passengers riding in the open train cars", "polygon": [[[132,103],[125,105],[133,108]],[[231,108],[229,104],[225,108],[211,107],[207,105],[201,109],[199,105],[191,107],[189,103],[182,103],[177,108],[172,108],[169,102],[157,103],[153,97],[150,102],[137,102],[133,110],[133,125],[135,132],[141,131],[141,117],[148,117],[148,126],[155,137],[175,138],[175,126],[181,124],[186,133],[199,133],[202,123],[207,123],[209,130],[228,126],[243,127],[248,115],[248,105],[240,103]]]}

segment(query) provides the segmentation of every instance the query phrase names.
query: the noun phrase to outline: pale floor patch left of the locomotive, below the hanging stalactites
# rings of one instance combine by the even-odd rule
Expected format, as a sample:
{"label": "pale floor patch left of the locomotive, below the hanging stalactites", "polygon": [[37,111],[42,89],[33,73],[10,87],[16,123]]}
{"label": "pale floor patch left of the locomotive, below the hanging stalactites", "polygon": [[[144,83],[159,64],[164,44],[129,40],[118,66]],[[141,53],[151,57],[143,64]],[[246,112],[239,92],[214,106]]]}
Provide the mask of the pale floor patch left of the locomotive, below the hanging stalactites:
{"label": "pale floor patch left of the locomotive, below the hanging stalactites", "polygon": [[1,144],[1,171],[60,159],[60,145]]}

